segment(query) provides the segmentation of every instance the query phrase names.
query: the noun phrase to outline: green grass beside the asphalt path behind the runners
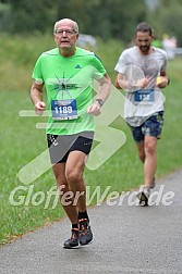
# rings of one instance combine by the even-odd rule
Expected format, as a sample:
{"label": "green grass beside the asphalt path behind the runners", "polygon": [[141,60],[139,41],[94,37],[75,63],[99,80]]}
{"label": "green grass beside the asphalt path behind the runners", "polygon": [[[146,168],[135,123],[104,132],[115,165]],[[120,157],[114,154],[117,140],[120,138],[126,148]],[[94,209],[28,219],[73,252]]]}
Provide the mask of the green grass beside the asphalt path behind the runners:
{"label": "green grass beside the asphalt path behind the runners", "polygon": [[[7,40],[5,40],[7,39]],[[45,209],[45,201],[35,207],[32,198],[35,198],[37,191],[46,192],[54,186],[54,178],[51,170],[47,171],[39,178],[29,185],[24,185],[17,177],[19,171],[36,155],[41,153],[46,148],[46,135],[44,129],[36,129],[35,124],[43,122],[43,117],[21,117],[21,110],[33,110],[29,100],[28,89],[31,86],[31,73],[35,59],[38,57],[44,45],[51,45],[51,39],[45,37],[41,46],[37,45],[37,38],[29,38],[25,41],[27,47],[25,54],[26,61],[17,58],[23,50],[21,41],[17,39],[9,43],[9,39],[3,40],[4,49],[9,49],[10,58],[8,63],[0,65],[2,80],[0,83],[0,102],[1,102],[1,182],[0,182],[0,244],[5,244],[14,237],[19,237],[27,231],[35,229],[45,224],[49,224],[64,216],[63,210],[59,202],[52,209],[53,199],[49,207]],[[23,42],[23,41],[22,41]],[[38,40],[38,45],[41,40]],[[13,45],[12,45],[13,43]],[[2,46],[2,45],[1,45]],[[17,49],[15,49],[17,46]],[[1,47],[1,51],[3,50]],[[22,47],[22,48],[21,48]],[[46,46],[45,46],[46,48]],[[15,50],[15,55],[13,52]],[[121,51],[119,42],[99,41],[96,50],[102,59],[112,80],[114,80],[113,67]],[[3,52],[7,52],[5,50]],[[2,52],[1,52],[2,53]],[[7,59],[4,53],[3,60]],[[33,54],[33,58],[28,57]],[[166,88],[166,113],[165,126],[161,140],[158,141],[158,169],[157,177],[160,178],[182,166],[182,120],[181,120],[181,67],[182,60],[169,62],[169,75],[171,85]],[[9,78],[8,78],[9,75]],[[11,76],[14,78],[11,79]],[[10,79],[10,80],[9,80]],[[131,133],[122,119],[118,119],[112,124],[113,127],[120,128],[126,135],[126,142],[122,146],[104,165],[96,171],[85,171],[86,184],[92,187],[101,187],[101,191],[107,186],[110,190],[119,192],[130,190],[141,185],[143,180],[142,164],[136,154],[136,148],[131,137]],[[15,195],[19,202],[20,197],[24,199],[21,205],[11,205],[9,198],[15,187],[24,187]],[[33,187],[33,194],[28,198],[28,188]],[[37,197],[37,201],[38,201]],[[27,204],[26,204],[27,202]],[[96,200],[93,201],[93,204]]]}

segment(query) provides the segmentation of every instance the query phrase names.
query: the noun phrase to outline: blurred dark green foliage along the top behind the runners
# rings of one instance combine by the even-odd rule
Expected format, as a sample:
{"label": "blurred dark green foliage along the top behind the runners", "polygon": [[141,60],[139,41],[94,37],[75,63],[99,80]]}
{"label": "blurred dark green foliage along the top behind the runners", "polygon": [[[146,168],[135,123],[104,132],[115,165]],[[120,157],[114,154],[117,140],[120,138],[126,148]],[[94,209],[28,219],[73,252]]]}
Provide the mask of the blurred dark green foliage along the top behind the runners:
{"label": "blurred dark green foliage along the top behind the runners", "polygon": [[182,46],[182,0],[0,0],[0,33],[50,33],[63,17],[75,20],[83,34],[124,42],[147,21],[158,38],[168,34]]}

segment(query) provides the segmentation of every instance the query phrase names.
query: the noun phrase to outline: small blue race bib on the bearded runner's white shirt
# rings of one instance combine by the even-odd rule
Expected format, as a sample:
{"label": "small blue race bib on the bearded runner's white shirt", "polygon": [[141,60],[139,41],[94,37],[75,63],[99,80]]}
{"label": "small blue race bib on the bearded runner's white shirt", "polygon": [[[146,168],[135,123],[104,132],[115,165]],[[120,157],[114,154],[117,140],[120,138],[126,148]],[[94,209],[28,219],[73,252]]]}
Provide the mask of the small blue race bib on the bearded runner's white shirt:
{"label": "small blue race bib on the bearded runner's white shirt", "polygon": [[139,89],[134,92],[134,101],[143,103],[151,103],[155,101],[154,89]]}

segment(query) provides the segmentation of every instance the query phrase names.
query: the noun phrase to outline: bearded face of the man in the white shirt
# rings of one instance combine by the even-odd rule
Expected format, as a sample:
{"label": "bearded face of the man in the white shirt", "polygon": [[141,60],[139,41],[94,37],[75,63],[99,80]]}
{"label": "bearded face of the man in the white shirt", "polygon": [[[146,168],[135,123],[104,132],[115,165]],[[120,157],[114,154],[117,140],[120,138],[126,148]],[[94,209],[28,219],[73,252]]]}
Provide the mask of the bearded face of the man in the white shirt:
{"label": "bearded face of the man in the white shirt", "polygon": [[141,52],[147,54],[150,49],[153,37],[148,33],[137,32],[135,39]]}

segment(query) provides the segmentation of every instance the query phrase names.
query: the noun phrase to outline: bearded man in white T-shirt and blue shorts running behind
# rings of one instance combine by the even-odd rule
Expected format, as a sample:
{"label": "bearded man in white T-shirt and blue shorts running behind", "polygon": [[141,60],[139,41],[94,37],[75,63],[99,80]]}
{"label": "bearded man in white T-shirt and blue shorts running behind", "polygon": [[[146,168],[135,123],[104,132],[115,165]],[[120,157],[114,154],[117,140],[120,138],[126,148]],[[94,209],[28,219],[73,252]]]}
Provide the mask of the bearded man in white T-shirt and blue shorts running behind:
{"label": "bearded man in white T-shirt and blue shorts running behind", "polygon": [[137,197],[148,204],[150,188],[155,186],[157,139],[163,124],[161,88],[169,85],[166,51],[151,47],[151,27],[142,22],[135,30],[135,46],[124,50],[116,65],[116,87],[126,91],[124,116],[136,142],[144,165],[144,187]]}

